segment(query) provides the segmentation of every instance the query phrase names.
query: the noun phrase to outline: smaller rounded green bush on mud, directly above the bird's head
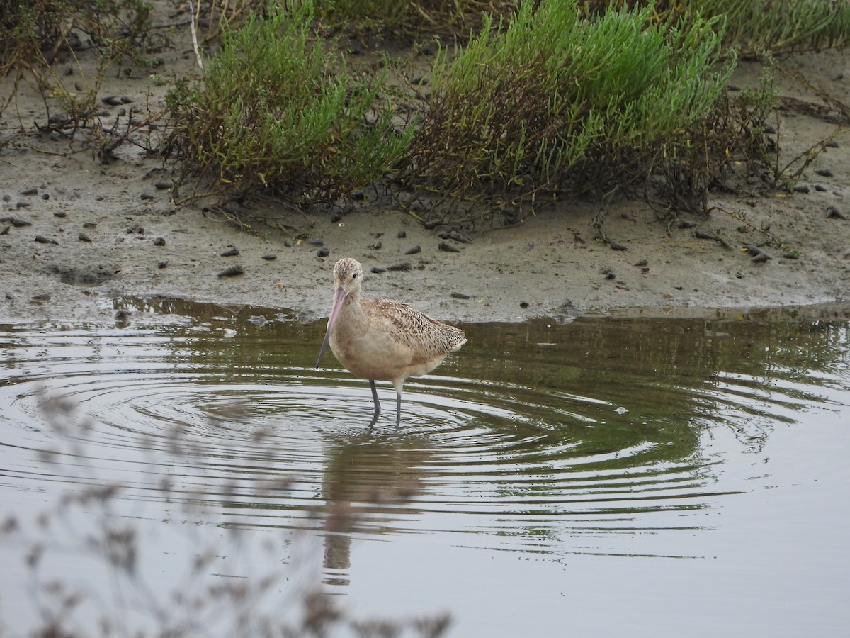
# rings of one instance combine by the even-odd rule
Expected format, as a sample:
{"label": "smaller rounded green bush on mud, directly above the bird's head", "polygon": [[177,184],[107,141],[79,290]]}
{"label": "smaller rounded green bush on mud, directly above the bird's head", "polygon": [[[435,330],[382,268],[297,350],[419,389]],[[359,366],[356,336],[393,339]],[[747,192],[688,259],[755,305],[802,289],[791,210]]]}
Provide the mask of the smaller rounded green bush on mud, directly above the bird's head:
{"label": "smaller rounded green bush on mud, directly above the bird's head", "polygon": [[358,80],[315,41],[313,3],[251,14],[225,28],[200,83],[178,83],[168,105],[188,171],[226,190],[269,189],[332,202],[391,173],[413,134],[378,104],[382,77]]}

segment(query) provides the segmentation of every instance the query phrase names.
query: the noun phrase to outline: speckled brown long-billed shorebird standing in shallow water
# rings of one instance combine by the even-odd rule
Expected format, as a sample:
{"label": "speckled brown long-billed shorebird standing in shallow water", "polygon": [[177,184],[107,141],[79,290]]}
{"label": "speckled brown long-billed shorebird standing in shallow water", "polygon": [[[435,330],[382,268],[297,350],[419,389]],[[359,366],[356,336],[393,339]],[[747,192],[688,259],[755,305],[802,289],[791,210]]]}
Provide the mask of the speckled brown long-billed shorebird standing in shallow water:
{"label": "speckled brown long-billed shorebird standing in shallow water", "polygon": [[334,356],[350,373],[369,379],[375,413],[381,414],[375,381],[392,381],[395,386],[395,424],[401,423],[401,386],[409,377],[427,374],[450,352],[467,342],[460,328],[447,326],[419,310],[394,299],[360,299],[363,266],[355,259],[340,259],[333,267],[331,318],[327,321],[321,356],[330,343]]}

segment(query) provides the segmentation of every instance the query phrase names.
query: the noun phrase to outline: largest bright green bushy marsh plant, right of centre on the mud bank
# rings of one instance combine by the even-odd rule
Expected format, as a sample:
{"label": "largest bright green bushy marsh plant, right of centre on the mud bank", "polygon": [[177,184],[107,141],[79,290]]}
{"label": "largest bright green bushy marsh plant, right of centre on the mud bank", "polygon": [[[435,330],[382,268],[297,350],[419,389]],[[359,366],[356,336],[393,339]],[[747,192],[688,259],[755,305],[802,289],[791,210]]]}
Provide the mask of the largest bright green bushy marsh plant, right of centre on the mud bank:
{"label": "largest bright green bushy marsh plant, right of centre on the mud bank", "polygon": [[587,20],[524,3],[434,71],[410,179],[456,197],[608,191],[682,162],[723,99],[720,20],[658,24],[652,7]]}

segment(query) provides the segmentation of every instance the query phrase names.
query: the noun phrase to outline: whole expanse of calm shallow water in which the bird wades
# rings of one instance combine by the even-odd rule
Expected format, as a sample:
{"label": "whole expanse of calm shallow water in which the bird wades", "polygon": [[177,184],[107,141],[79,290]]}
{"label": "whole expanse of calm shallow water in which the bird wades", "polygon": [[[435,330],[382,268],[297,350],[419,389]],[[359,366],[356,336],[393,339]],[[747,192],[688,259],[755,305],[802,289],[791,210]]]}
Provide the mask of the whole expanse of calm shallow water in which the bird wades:
{"label": "whole expanse of calm shallow water in which the bird wades", "polygon": [[[314,370],[321,324],[116,307],[0,327],[0,627],[122,608],[150,631],[273,574],[254,620],[297,624],[320,583],[449,635],[850,632],[847,314],[464,326],[369,430],[368,385]],[[206,629],[251,635],[231,598]]]}

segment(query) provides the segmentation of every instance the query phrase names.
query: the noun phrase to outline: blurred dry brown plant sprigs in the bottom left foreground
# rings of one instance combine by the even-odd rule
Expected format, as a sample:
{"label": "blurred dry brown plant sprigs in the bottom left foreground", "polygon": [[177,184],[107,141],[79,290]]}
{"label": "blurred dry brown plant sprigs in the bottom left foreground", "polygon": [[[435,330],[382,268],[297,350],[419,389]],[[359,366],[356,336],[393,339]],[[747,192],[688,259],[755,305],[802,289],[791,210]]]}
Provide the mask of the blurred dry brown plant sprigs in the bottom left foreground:
{"label": "blurred dry brown plant sprigs in the bottom left foreground", "polygon": [[[208,415],[208,426],[249,423],[247,406],[240,400],[224,405]],[[236,471],[231,478],[217,471],[216,464],[200,462],[196,443],[178,419],[160,441],[165,446],[152,442],[158,436],[154,433],[150,447],[143,446],[150,462],[143,471],[150,482],[139,481],[138,468],[130,467],[134,463],[107,480],[97,444],[104,435],[102,425],[64,396],[42,395],[39,407],[50,445],[38,463],[66,487],[55,504],[32,520],[0,512],[4,556],[14,557],[17,549],[20,559],[20,565],[4,567],[18,574],[23,566],[26,573],[18,584],[25,604],[0,609],[0,634],[14,627],[9,635],[45,638],[319,638],[348,630],[344,635],[438,638],[448,629],[451,617],[446,612],[358,617],[314,578],[299,575],[314,558],[309,550],[297,551],[299,532],[266,528],[260,540],[227,521],[226,504],[244,495],[276,500],[292,488],[292,477],[280,471],[275,455],[263,446],[267,433],[255,433],[251,471]],[[191,467],[190,480],[163,472],[163,454],[167,464]],[[369,498],[399,504],[409,502],[411,494],[390,486]],[[174,516],[150,518],[141,509],[150,499],[167,503],[163,511]],[[337,527],[329,535],[337,537],[366,515],[350,504],[329,502],[316,506],[314,516],[334,519]],[[167,567],[158,555],[167,555]],[[232,571],[223,574],[223,567]]]}

